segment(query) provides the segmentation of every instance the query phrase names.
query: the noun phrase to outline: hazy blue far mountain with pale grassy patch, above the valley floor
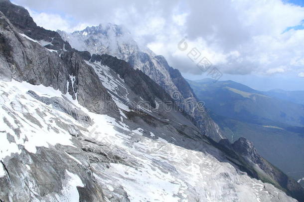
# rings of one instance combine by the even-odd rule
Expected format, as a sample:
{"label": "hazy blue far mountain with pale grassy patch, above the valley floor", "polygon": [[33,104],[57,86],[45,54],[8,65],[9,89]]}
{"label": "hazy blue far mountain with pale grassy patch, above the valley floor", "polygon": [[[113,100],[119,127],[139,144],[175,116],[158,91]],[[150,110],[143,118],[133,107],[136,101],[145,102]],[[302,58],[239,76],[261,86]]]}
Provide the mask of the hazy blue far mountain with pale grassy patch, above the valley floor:
{"label": "hazy blue far mountain with pale grassy patch, above the valley floor", "polygon": [[250,123],[304,126],[304,105],[287,101],[287,97],[279,99],[279,94],[272,96],[272,91],[257,91],[233,81],[214,83],[208,79],[189,83],[196,96],[218,115]]}

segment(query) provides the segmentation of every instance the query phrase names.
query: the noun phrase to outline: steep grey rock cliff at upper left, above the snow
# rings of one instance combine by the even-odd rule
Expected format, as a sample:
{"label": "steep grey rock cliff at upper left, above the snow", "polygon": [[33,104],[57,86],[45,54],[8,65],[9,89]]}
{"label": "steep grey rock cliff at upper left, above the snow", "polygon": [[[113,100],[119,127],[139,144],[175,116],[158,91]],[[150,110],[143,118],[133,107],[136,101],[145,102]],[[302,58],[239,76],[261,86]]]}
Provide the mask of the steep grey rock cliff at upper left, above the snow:
{"label": "steep grey rock cliff at upper left, above the snow", "polygon": [[[18,21],[28,12],[22,7],[16,6],[9,1],[0,1],[0,11],[9,13],[12,21]],[[17,15],[17,16],[15,16]],[[32,31],[40,33],[40,27],[34,27],[35,23],[28,15],[26,22]],[[79,52],[70,49],[66,50],[60,46],[60,50],[48,49],[48,46],[39,42],[40,35],[32,35],[33,38],[22,33],[10,23],[10,20],[0,13],[0,72],[1,78],[6,80],[26,81],[33,85],[51,86],[60,90],[63,94],[69,94],[79,101],[83,106],[97,113],[107,113],[116,116],[115,107],[113,109],[98,109],[93,106],[106,103],[115,105],[107,90],[103,87],[95,71],[87,65]],[[18,24],[17,24],[18,25]],[[22,27],[21,27],[22,28]],[[26,28],[25,28],[26,29]],[[30,29],[26,29],[30,30]],[[34,31],[36,30],[36,31]],[[43,29],[44,30],[44,29]],[[43,37],[52,38],[52,31],[44,30]],[[50,34],[50,35],[47,35]],[[60,37],[60,35],[57,35]],[[59,40],[59,39],[58,39]],[[61,39],[61,41],[63,41]],[[65,44],[68,44],[65,42]],[[56,43],[55,43],[56,45]],[[59,47],[59,46],[58,46]],[[103,103],[103,104],[101,104]]]}

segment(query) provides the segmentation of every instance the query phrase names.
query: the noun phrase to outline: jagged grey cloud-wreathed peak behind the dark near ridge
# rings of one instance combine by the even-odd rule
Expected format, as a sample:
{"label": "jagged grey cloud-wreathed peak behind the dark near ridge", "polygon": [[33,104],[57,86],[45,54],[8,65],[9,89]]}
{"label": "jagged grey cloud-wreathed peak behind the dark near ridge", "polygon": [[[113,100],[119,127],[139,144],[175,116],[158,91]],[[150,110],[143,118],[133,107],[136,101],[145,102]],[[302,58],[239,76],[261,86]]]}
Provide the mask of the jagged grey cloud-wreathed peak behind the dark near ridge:
{"label": "jagged grey cloud-wreathed peak behind the dark near ridge", "polygon": [[146,47],[139,47],[130,32],[123,26],[109,23],[87,27],[73,33],[60,30],[58,32],[73,48],[89,51],[91,54],[113,55],[129,62],[134,69],[142,70],[193,118],[195,125],[203,134],[215,141],[224,137],[217,124],[197,101],[191,87],[180,72],[170,67],[164,57],[156,56]]}

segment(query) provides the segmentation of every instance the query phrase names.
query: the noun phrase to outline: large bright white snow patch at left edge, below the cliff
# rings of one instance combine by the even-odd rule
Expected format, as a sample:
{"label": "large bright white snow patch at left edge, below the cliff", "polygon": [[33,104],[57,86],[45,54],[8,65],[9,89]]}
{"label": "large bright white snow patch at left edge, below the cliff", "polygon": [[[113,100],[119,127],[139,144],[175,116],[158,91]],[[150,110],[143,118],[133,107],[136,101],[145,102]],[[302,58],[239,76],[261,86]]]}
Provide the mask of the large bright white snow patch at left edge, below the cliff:
{"label": "large bright white snow patch at left edge, below the cliff", "polygon": [[[60,91],[43,85],[35,86],[14,80],[0,82],[0,92],[8,94],[3,102],[0,102],[0,119],[4,121],[0,134],[0,159],[13,153],[19,154],[18,145],[23,145],[31,153],[36,153],[36,147],[48,148],[56,144],[75,147],[70,141],[72,137],[69,132],[58,127],[54,121],[66,117],[66,114],[37,101],[26,93],[28,90],[46,97],[62,95]],[[0,97],[5,96],[3,93],[0,94]],[[37,111],[44,113],[44,117],[41,117]],[[61,120],[66,120],[66,124],[75,122],[72,117]],[[6,138],[8,133],[13,136],[15,142],[8,142]]]}

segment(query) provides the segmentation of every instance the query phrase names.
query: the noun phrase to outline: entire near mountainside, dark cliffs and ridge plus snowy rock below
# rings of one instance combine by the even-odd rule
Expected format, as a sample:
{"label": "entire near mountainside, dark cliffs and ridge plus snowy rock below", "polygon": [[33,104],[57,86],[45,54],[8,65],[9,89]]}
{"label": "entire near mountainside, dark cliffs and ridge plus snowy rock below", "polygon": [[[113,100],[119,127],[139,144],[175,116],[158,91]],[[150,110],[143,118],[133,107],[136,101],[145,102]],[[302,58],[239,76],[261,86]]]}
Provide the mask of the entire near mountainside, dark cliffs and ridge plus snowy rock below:
{"label": "entire near mountainside, dark cliffs and ridge plus snowy rock below", "polygon": [[[26,13],[8,0],[3,9]],[[0,12],[1,201],[296,201],[202,135],[142,71],[109,55],[49,51],[23,32],[40,30],[28,13],[23,28],[8,16]]]}

